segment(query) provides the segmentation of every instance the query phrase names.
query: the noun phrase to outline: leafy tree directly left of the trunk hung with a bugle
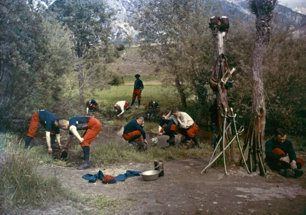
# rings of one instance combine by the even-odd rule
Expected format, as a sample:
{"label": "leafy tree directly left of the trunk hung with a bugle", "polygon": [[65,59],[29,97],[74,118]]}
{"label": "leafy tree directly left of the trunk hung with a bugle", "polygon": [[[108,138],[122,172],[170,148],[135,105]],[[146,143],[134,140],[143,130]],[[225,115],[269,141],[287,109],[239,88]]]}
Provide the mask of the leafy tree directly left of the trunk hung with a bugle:
{"label": "leafy tree directly left of the trunk hung with a bugle", "polygon": [[183,107],[193,93],[205,104],[213,43],[203,23],[211,16],[212,1],[150,0],[138,7],[134,27],[143,38],[141,56],[167,66],[166,81],[176,86]]}

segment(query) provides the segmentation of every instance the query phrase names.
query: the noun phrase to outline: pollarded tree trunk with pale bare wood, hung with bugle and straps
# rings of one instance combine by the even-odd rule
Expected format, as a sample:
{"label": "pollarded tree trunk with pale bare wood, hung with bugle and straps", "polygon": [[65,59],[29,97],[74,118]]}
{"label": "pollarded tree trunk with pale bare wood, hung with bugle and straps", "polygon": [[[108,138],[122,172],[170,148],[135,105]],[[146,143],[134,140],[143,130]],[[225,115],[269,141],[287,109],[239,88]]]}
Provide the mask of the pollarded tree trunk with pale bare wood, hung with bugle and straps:
{"label": "pollarded tree trunk with pale bare wood, hung with bugle and straps", "polygon": [[[223,76],[222,68],[224,68],[224,63],[226,58],[224,56],[224,39],[230,27],[229,20],[226,16],[216,17],[213,16],[210,19],[209,26],[212,30],[215,41],[215,53],[214,53],[214,72],[212,78],[218,84],[218,90],[215,91],[217,98],[217,107],[218,107],[218,121],[219,121],[219,133],[222,135],[222,113],[224,110],[229,111],[229,105],[227,100],[227,90],[224,86],[221,86],[221,78]],[[229,143],[229,140],[232,139],[231,129],[228,129],[225,133],[225,144]],[[230,145],[226,149],[226,158],[228,161],[233,162],[233,147]]]}

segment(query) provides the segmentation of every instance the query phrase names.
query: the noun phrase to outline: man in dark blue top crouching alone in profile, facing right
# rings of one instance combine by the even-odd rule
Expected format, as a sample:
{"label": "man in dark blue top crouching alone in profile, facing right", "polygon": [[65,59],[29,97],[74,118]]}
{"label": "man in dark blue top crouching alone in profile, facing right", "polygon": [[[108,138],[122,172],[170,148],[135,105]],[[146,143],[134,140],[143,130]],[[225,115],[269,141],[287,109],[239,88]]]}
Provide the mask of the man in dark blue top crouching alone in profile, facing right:
{"label": "man in dark blue top crouching alone in profile, facing right", "polygon": [[148,143],[146,140],[146,133],[144,132],[144,118],[139,117],[138,119],[133,119],[132,121],[128,122],[124,127],[122,137],[123,139],[129,141],[129,144],[137,146],[138,149],[142,149],[141,139],[137,139],[141,137],[144,138],[144,148],[147,147]]}

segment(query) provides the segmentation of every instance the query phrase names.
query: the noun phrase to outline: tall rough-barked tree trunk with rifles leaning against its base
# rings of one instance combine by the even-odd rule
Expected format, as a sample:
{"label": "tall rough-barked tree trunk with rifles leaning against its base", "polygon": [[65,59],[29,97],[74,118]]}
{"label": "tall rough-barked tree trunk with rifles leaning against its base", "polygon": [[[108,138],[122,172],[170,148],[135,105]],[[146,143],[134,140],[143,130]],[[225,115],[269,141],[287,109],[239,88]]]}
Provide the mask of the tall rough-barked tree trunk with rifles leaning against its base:
{"label": "tall rough-barked tree trunk with rifles leaning against its base", "polygon": [[[272,18],[272,11],[277,0],[249,0],[248,4],[252,13],[256,15],[256,40],[252,54],[251,78],[252,78],[252,115],[250,126],[252,132],[248,133],[245,143],[249,142],[248,166],[249,170],[256,171],[257,164],[261,176],[266,174],[263,161],[263,137],[266,123],[266,103],[263,89],[263,56],[270,41],[269,22]],[[256,159],[256,155],[258,161]]]}

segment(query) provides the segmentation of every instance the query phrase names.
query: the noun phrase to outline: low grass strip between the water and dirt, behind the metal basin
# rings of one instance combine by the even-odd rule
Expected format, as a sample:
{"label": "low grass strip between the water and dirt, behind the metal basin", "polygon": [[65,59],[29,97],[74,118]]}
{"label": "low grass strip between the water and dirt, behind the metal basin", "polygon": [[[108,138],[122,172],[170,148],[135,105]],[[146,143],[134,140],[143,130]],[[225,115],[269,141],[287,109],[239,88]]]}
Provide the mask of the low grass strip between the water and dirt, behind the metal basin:
{"label": "low grass strip between the water and dirt, behind the metal basin", "polygon": [[211,146],[200,144],[201,149],[184,149],[181,147],[150,147],[145,152],[137,151],[136,148],[109,142],[96,147],[91,152],[91,164],[100,167],[105,164],[117,162],[151,162],[153,160],[176,160],[176,159],[199,159],[211,153]]}

